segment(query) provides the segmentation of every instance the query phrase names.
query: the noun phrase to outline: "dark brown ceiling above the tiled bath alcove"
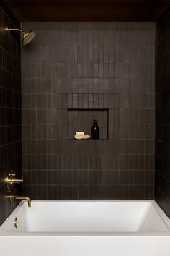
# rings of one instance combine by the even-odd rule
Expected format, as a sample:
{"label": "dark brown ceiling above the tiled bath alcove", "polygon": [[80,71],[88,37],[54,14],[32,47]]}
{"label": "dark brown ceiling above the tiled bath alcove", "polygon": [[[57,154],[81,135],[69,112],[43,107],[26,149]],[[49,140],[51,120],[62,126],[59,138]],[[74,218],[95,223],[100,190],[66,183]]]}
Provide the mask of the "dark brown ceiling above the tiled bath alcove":
{"label": "dark brown ceiling above the tiled bath alcove", "polygon": [[20,22],[155,22],[170,0],[7,0]]}

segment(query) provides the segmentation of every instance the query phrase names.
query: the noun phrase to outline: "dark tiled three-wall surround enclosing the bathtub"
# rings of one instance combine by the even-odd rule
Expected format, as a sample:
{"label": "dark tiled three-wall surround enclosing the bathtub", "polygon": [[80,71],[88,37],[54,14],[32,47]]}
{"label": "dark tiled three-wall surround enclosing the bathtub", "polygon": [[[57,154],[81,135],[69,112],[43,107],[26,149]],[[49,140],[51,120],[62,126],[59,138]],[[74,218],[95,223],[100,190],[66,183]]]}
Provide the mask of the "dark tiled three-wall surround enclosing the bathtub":
{"label": "dark tiled three-wall surround enclosing the bathtub", "polygon": [[[19,25],[1,0],[0,27]],[[0,225],[18,203],[5,199],[11,169],[32,199],[156,199],[170,216],[170,9],[156,24],[22,28],[36,30],[22,61],[19,34],[0,33]],[[105,140],[69,140],[94,116]]]}

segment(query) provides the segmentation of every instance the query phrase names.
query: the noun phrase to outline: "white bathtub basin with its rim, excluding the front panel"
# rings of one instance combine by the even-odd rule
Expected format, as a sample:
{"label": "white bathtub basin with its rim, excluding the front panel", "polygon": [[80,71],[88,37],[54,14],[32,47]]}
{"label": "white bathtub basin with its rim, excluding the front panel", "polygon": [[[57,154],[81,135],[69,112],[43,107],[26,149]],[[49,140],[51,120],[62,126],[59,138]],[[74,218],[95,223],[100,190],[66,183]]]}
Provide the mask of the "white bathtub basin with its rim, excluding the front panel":
{"label": "white bathtub basin with its rim, excluding the front panel", "polygon": [[154,201],[32,201],[32,208],[21,202],[0,232],[168,232],[169,221]]}

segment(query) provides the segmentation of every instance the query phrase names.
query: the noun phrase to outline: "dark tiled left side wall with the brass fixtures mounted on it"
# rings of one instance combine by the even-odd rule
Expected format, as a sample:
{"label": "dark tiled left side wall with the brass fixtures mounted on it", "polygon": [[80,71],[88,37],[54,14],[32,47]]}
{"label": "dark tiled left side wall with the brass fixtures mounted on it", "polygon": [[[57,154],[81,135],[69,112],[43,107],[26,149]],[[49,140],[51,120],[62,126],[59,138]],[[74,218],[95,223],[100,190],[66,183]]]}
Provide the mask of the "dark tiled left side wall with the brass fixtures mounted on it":
{"label": "dark tiled left side wall with the brass fixtures mounted on it", "polygon": [[[4,1],[0,1],[0,27],[19,27]],[[0,225],[18,202],[6,200],[4,178],[10,170],[22,175],[21,72],[19,34],[0,32]],[[19,185],[13,193],[19,195]]]}

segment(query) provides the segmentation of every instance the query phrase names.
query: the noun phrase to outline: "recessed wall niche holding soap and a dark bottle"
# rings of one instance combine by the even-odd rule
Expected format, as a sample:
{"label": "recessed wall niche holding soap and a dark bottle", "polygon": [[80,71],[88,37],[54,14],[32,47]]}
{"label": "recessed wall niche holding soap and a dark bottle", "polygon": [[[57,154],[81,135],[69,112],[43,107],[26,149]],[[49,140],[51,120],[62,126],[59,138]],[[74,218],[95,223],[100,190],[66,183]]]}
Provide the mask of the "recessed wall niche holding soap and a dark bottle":
{"label": "recessed wall niche holding soap and a dark bottle", "polygon": [[75,140],[76,132],[85,132],[91,135],[94,119],[99,126],[99,140],[108,140],[108,115],[107,108],[102,109],[68,109],[68,139]]}

